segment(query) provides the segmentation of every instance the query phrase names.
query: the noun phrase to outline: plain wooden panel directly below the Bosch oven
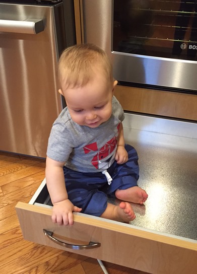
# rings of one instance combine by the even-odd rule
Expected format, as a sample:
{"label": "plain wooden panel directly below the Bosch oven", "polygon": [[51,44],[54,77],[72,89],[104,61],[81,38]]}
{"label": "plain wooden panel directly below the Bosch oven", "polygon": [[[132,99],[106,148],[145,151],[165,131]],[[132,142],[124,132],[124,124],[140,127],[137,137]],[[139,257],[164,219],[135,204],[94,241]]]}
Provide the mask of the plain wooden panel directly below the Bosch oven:
{"label": "plain wooden panel directly below the Bosch oven", "polygon": [[117,86],[115,96],[127,111],[197,120],[196,94]]}

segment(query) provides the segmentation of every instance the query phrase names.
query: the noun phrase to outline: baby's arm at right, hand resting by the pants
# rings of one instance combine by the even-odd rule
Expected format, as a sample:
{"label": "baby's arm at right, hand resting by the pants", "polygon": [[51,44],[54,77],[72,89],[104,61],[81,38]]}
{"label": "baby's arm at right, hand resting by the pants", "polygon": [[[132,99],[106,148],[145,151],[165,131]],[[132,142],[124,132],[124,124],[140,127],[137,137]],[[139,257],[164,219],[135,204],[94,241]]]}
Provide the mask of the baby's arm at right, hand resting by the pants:
{"label": "baby's arm at right, hand resting by the pants", "polygon": [[124,134],[123,134],[123,126],[120,123],[119,132],[118,132],[118,143],[117,150],[115,154],[115,160],[118,164],[124,164],[128,161],[128,154],[124,148]]}

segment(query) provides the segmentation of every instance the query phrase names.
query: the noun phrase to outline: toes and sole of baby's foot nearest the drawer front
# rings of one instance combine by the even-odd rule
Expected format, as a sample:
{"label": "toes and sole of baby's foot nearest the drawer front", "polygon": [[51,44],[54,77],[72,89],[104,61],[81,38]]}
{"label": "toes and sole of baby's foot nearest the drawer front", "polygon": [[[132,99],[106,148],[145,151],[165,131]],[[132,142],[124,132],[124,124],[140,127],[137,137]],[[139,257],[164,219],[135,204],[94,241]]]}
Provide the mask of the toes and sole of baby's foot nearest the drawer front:
{"label": "toes and sole of baby's foot nearest the drawer front", "polygon": [[116,221],[120,222],[129,222],[133,221],[136,218],[136,215],[130,203],[124,201],[120,202],[119,205],[116,205],[116,215]]}

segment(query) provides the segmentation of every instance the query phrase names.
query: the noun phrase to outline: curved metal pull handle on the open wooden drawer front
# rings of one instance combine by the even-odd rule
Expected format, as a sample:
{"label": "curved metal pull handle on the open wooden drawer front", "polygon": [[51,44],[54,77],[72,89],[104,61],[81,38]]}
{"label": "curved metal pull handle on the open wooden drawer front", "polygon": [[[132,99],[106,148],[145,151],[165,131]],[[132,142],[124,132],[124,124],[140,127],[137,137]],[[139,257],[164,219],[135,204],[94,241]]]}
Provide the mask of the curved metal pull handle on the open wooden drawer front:
{"label": "curved metal pull handle on the open wooden drawer front", "polygon": [[64,243],[56,238],[53,237],[53,232],[52,231],[48,231],[46,229],[43,229],[43,232],[45,234],[45,236],[47,236],[51,241],[53,241],[54,243],[61,245],[63,247],[67,247],[67,248],[71,248],[71,249],[92,249],[92,248],[97,248],[100,247],[101,244],[100,243],[94,243],[94,242],[89,242],[88,245],[74,245],[74,244],[68,244],[68,243]]}

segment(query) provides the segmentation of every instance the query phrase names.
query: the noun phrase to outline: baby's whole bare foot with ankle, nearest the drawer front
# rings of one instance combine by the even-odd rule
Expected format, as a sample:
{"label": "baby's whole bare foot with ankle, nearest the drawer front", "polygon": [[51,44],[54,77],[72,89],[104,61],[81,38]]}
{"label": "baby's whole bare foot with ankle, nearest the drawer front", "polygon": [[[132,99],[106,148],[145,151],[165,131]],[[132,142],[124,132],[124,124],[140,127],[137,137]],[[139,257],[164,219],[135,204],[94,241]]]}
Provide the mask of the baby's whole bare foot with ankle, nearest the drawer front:
{"label": "baby's whole bare foot with ankle, nearest the drawer front", "polygon": [[133,221],[136,215],[130,203],[122,201],[119,205],[107,203],[107,208],[100,217],[119,222],[129,222]]}

